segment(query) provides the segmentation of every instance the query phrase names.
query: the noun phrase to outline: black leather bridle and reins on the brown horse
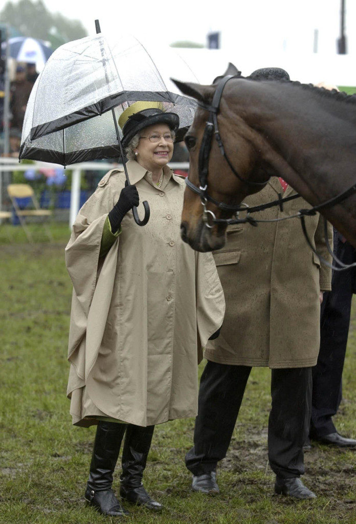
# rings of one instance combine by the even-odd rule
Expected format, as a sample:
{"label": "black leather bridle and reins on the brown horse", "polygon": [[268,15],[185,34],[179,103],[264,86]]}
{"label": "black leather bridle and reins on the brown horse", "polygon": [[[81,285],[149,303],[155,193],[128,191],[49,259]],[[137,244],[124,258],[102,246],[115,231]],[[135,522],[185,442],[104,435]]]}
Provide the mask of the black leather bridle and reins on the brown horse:
{"label": "black leather bridle and reins on the brown horse", "polygon": [[[199,187],[197,187],[195,184],[193,184],[188,177],[185,179],[185,183],[189,189],[191,189],[194,193],[197,193],[200,198],[203,205],[203,221],[205,223],[205,226],[208,228],[213,228],[215,224],[224,223],[226,225],[230,224],[241,224],[241,223],[250,223],[253,226],[257,226],[260,222],[271,222],[269,220],[256,220],[251,216],[251,213],[255,213],[258,211],[263,211],[264,209],[272,208],[276,205],[280,207],[280,210],[283,211],[283,204],[285,202],[294,200],[296,198],[300,198],[300,195],[294,194],[291,196],[288,196],[287,198],[282,198],[282,195],[279,194],[279,198],[277,200],[274,200],[272,202],[268,202],[266,204],[261,204],[258,206],[254,206],[253,208],[250,208],[248,204],[242,203],[239,205],[228,205],[224,202],[219,202],[218,200],[215,200],[212,196],[210,196],[207,192],[208,189],[208,172],[209,172],[209,156],[210,156],[210,150],[212,149],[212,141],[213,141],[213,135],[215,136],[215,139],[217,141],[217,144],[219,146],[221,155],[225,158],[226,162],[228,163],[231,171],[235,176],[243,183],[247,185],[251,185],[253,187],[260,187],[261,189],[266,185],[268,180],[264,182],[253,182],[251,180],[246,180],[240,176],[240,174],[236,171],[236,169],[232,166],[225,148],[224,144],[222,144],[221,136],[219,133],[219,127],[218,127],[218,119],[217,115],[219,113],[219,106],[221,101],[222,92],[224,91],[225,85],[229,80],[232,78],[239,78],[235,75],[227,75],[226,77],[221,78],[218,83],[216,90],[213,95],[213,101],[212,104],[205,104],[203,102],[198,102],[198,105],[200,107],[203,107],[206,111],[209,112],[207,121],[205,123],[205,129],[204,129],[204,135],[202,138],[201,147],[199,149],[199,158],[198,158],[198,176],[199,176]],[[318,255],[319,259],[324,263],[325,265],[331,267],[332,269],[336,271],[343,271],[345,269],[349,269],[351,267],[356,266],[356,263],[350,264],[349,266],[343,264],[341,260],[339,260],[332,252],[332,249],[329,245],[328,238],[327,238],[327,222],[325,220],[325,234],[326,234],[326,245],[328,248],[329,253],[331,254],[333,260],[336,261],[337,264],[341,267],[333,266],[328,262],[328,260],[325,260],[322,256],[317,253],[315,248],[313,247],[313,244],[310,241],[310,238],[308,237],[307,231],[306,231],[306,225],[305,225],[305,216],[315,215],[320,210],[324,210],[326,208],[329,208],[333,205],[336,205],[343,200],[347,199],[348,196],[354,194],[356,192],[356,184],[353,184],[350,188],[346,189],[342,193],[339,193],[338,195],[334,196],[333,198],[327,200],[326,202],[322,202],[321,204],[318,204],[314,206],[311,209],[301,209],[298,211],[295,215],[290,215],[288,217],[285,217],[283,219],[274,219],[273,222],[286,220],[286,219],[292,219],[294,217],[298,217],[301,219],[302,222],[302,229],[303,233],[306,237],[306,240],[310,246],[310,248],[313,250],[316,255]],[[232,212],[235,215],[235,218],[233,219],[217,219],[213,211],[210,211],[206,209],[206,203],[212,202],[217,206],[218,209],[222,211],[228,211]],[[244,216],[242,219],[239,218],[239,213],[241,211],[247,212],[246,216]]]}

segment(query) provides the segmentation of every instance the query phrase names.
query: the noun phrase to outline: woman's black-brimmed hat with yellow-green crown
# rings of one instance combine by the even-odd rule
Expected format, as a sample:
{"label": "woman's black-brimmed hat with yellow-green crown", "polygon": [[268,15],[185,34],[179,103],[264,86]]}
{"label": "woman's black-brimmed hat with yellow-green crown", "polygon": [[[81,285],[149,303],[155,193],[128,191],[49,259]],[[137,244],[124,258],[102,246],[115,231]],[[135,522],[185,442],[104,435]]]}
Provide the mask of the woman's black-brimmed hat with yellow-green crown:
{"label": "woman's black-brimmed hat with yellow-green crown", "polygon": [[130,105],[119,118],[119,126],[123,130],[121,144],[126,147],[130,140],[145,127],[154,124],[167,124],[176,131],[179,128],[179,116],[176,113],[165,113],[160,102],[135,102]]}

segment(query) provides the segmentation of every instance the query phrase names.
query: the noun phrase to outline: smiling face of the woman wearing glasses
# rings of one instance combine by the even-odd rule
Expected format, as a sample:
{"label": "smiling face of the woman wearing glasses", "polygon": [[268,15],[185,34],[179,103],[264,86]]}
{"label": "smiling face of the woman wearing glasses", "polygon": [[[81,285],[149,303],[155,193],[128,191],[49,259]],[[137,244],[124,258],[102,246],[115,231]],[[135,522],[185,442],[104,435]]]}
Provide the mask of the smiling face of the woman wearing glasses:
{"label": "smiling face of the woman wearing glasses", "polygon": [[[154,171],[162,168],[169,162],[173,155],[173,141],[166,140],[164,135],[170,135],[171,130],[166,124],[154,124],[142,129],[140,133],[140,141],[135,152],[138,153],[136,160],[138,163],[148,169]],[[151,139],[159,136],[157,142],[152,142]]]}

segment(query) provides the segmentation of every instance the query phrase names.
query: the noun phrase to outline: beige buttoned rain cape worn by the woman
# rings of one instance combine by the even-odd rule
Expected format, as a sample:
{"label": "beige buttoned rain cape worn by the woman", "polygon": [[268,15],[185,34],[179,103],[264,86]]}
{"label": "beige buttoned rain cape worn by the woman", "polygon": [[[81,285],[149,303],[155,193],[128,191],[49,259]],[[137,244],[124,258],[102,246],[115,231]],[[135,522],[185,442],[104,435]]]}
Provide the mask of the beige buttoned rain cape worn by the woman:
{"label": "beige buttoned rain cape worn by the woman", "polygon": [[67,394],[77,425],[96,423],[93,416],[140,426],[195,416],[202,346],[224,318],[212,254],[180,238],[184,180],[165,167],[158,189],[136,161],[127,167],[140,202],[149,202],[148,224],[139,227],[130,211],[99,258],[104,222],[125,183],[124,172],[112,170],[80,210],[65,249],[74,288]]}

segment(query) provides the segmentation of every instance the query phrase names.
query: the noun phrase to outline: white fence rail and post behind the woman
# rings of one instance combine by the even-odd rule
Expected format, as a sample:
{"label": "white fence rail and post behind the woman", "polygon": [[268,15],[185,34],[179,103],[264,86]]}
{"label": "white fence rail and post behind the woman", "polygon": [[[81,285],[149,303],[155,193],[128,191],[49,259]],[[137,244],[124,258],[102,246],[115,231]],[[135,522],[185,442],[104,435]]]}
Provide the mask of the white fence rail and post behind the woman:
{"label": "white fence rail and post behind the woman", "polygon": [[[72,228],[74,224],[75,217],[79,211],[79,202],[80,202],[80,186],[81,186],[81,174],[82,171],[102,171],[107,169],[122,168],[123,165],[119,163],[112,162],[82,162],[77,164],[72,164],[68,166],[68,170],[72,171],[72,185],[71,185],[71,203],[69,210],[69,227]],[[189,169],[189,162],[170,162],[170,167],[172,169]],[[63,168],[58,164],[52,164],[49,162],[34,162],[31,164],[28,163],[19,163],[16,158],[0,158],[0,196],[3,194],[3,173],[4,172],[13,172],[13,171],[27,171],[28,169],[58,169]],[[2,206],[2,199],[0,198],[0,211]]]}

